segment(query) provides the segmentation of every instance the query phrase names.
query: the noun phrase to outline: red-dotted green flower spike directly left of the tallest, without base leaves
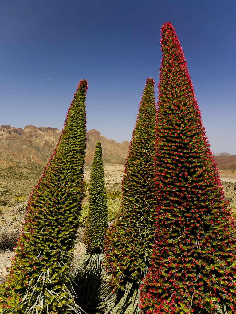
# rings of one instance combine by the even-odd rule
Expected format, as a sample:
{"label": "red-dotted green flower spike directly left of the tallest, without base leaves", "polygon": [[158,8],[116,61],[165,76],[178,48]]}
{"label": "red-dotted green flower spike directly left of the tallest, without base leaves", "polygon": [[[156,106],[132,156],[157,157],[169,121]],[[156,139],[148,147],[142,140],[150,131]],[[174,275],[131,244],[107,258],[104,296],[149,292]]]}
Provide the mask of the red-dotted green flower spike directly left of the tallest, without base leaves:
{"label": "red-dotted green flower spike directly left of the tallest, without base leaves", "polygon": [[154,81],[148,78],[126,160],[121,207],[105,242],[104,265],[118,294],[125,291],[127,283],[132,283],[134,290],[139,288],[151,258],[156,207],[155,127]]}

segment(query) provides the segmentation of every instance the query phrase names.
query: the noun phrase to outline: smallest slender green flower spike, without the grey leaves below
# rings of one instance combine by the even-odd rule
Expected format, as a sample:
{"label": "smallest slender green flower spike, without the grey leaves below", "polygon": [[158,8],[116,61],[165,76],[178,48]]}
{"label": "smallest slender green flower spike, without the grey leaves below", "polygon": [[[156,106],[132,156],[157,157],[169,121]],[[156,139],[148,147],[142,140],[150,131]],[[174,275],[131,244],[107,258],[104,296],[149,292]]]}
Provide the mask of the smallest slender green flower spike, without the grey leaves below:
{"label": "smallest slender green flower spike, without the grey leaves below", "polygon": [[107,193],[103,170],[102,145],[101,142],[97,142],[90,179],[89,212],[84,234],[84,244],[88,250],[103,252],[107,227]]}

